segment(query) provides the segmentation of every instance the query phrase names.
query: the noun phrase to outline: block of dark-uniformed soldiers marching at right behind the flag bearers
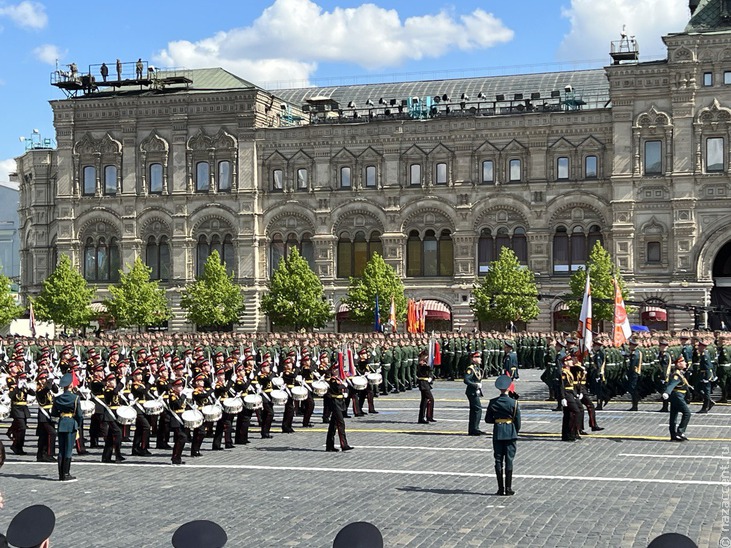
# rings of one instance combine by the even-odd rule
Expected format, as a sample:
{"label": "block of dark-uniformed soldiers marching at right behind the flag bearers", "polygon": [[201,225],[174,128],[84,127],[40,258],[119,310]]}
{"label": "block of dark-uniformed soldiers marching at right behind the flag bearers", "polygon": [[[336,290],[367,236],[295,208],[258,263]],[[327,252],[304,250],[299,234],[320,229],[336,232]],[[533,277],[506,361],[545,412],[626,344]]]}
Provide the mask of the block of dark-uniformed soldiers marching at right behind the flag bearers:
{"label": "block of dark-uniformed soldiers marching at right behind the flag bearers", "polygon": [[[577,341],[570,337],[556,340],[549,337],[548,340],[555,346],[546,352],[541,379],[548,385],[549,400],[559,401],[561,360],[567,354],[576,359]],[[707,413],[715,405],[711,398],[712,388],[731,384],[731,364],[725,365],[724,343],[727,343],[726,337],[719,336],[714,343],[699,334],[681,332],[674,338],[661,335],[633,337],[621,347],[615,347],[609,336],[596,334],[590,354],[582,360],[587,369],[588,389],[597,398],[596,409],[601,410],[612,398],[627,393],[632,402],[629,410],[637,411],[642,398],[664,392],[672,363],[682,355],[688,364],[685,378],[691,386],[687,397],[690,401],[695,395],[702,402],[699,412]],[[722,398],[725,399],[727,393],[728,388],[722,388]],[[556,410],[561,410],[561,406]],[[660,411],[668,411],[667,401]]]}

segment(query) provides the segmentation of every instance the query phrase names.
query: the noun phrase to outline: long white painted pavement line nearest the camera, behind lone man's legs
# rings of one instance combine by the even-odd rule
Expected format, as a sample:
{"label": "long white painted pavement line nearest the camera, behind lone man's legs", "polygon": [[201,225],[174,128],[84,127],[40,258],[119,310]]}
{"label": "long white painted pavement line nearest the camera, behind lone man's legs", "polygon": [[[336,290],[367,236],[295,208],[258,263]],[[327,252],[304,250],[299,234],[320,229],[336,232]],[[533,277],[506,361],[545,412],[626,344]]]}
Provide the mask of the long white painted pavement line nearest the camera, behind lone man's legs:
{"label": "long white painted pavement line nearest the camera, behind lone man's legs", "polygon": [[[347,458],[347,457],[346,457]],[[6,462],[5,466],[13,465],[33,465],[36,463],[20,463],[20,462]],[[124,468],[157,468],[160,470],[162,467],[168,468],[169,470],[178,469],[182,472],[186,472],[189,469],[223,469],[223,470],[267,470],[274,472],[340,472],[345,474],[390,474],[396,476],[447,476],[447,477],[463,477],[463,478],[494,478],[493,473],[477,473],[477,472],[447,472],[441,470],[388,470],[388,469],[370,469],[370,468],[325,468],[325,467],[313,467],[313,466],[264,466],[254,464],[186,464],[180,467],[171,467],[170,465],[164,464],[147,464],[147,463],[128,463],[128,464],[105,464],[101,462],[78,462],[74,463],[74,466],[115,466],[117,469]],[[610,478],[602,476],[555,476],[555,475],[541,475],[541,474],[515,474],[513,477],[521,479],[536,479],[536,480],[560,480],[560,481],[584,481],[584,482],[608,482],[608,483],[625,483],[628,485],[634,483],[659,483],[659,484],[673,484],[673,485],[728,485],[728,482],[724,481],[706,481],[706,480],[681,480],[681,479],[650,479],[650,478]]]}

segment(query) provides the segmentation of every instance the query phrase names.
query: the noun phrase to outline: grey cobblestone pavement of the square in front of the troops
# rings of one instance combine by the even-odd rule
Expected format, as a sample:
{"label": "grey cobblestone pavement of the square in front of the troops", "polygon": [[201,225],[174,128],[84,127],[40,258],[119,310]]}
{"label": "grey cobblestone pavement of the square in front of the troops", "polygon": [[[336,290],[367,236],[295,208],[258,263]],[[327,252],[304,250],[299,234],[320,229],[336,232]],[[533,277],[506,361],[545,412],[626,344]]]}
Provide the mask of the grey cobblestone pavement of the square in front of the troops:
{"label": "grey cobblestone pavement of the square in front of the troops", "polygon": [[[0,531],[25,506],[45,503],[57,515],[59,548],[170,546],[175,529],[194,519],[221,524],[232,547],[324,548],[361,520],[377,525],[389,547],[647,546],[671,531],[702,547],[731,546],[731,408],[694,414],[691,441],[672,443],[657,396],[634,413],[612,402],[598,412],[600,435],[566,443],[538,376],[523,371],[519,381],[513,497],[492,494],[490,437],[466,435],[464,384],[437,381],[436,424],[416,423],[418,390],[382,396],[378,415],[346,421],[348,453],[324,451],[316,415],[316,428],[281,434],[275,423],[274,439],[252,429],[252,443],[231,450],[205,451],[207,439],[204,457],[179,467],[168,451],[131,457],[125,444],[125,463],[102,464],[95,450],[74,458],[79,481],[63,484],[53,481],[55,464],[31,457],[29,436],[29,455],[9,455],[0,470]],[[496,395],[491,379],[485,386]]]}

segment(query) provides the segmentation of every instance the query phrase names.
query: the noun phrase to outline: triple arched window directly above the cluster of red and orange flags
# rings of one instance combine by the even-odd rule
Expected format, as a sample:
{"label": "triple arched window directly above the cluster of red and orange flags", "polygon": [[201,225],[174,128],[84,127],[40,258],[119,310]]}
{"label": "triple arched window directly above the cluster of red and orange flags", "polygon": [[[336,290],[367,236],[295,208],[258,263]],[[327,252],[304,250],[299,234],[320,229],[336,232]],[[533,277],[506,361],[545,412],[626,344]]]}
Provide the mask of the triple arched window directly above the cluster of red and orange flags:
{"label": "triple arched window directly above the cluster of red and orange flags", "polygon": [[407,276],[451,276],[453,273],[454,247],[449,230],[443,230],[439,238],[433,230],[427,230],[423,240],[417,230],[409,233],[406,241]]}

